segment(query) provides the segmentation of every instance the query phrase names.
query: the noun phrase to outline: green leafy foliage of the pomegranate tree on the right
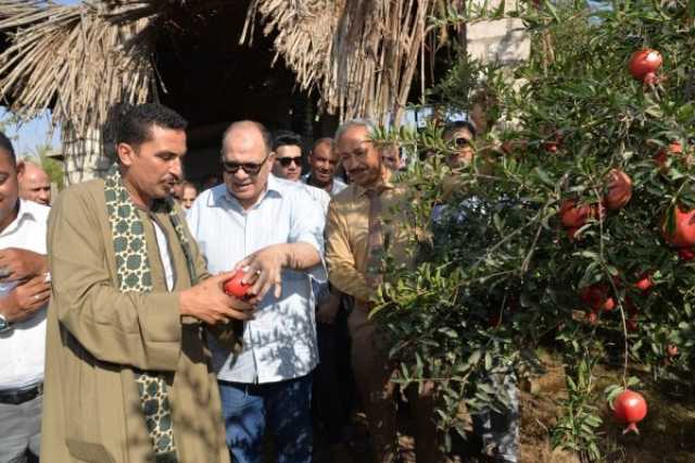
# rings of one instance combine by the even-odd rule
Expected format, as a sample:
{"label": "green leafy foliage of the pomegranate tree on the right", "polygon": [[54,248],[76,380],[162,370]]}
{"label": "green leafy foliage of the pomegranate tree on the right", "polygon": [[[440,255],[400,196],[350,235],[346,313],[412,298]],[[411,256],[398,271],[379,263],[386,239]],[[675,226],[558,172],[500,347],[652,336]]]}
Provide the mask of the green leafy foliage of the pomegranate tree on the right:
{"label": "green leafy foliage of the pomegranate tree on the right", "polygon": [[[473,165],[445,166],[453,147],[434,125],[381,134],[428,160],[404,180],[418,265],[391,262],[374,316],[392,337],[403,383],[434,381],[441,426],[459,431],[460,401],[473,411],[503,405],[485,377],[508,364],[529,374],[538,367],[536,347],[551,346],[565,359],[570,391],[553,441],[593,461],[601,458],[601,418],[589,402],[596,362],[622,359],[626,374],[617,386],[637,389],[630,365],[657,378],[686,377],[691,368],[695,263],[679,260],[660,230],[665,220],[673,226],[677,204],[695,204],[693,168],[686,157],[671,157],[664,170],[654,158],[674,140],[687,152],[695,140],[695,3],[614,2],[595,11],[583,2],[545,2],[506,14],[529,27],[530,61],[502,70],[462,57],[431,93],[468,110],[484,89],[498,122],[477,140]],[[664,55],[655,86],[628,72],[631,54],[643,47]],[[516,148],[505,152],[504,141]],[[547,143],[556,141],[557,152],[549,152]],[[615,167],[632,178],[632,200],[569,239],[560,204],[601,202]],[[438,205],[444,218],[433,223]],[[643,292],[634,283],[645,274],[654,287]],[[595,283],[609,287],[617,309],[590,324],[579,292]],[[671,343],[681,354],[667,361]]]}

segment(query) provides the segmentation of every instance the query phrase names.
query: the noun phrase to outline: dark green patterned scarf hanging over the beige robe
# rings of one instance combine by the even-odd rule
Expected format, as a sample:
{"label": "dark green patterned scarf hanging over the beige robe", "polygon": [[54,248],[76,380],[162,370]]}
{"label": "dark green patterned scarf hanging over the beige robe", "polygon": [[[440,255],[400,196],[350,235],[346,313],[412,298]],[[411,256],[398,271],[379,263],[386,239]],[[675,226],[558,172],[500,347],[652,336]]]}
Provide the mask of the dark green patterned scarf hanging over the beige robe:
{"label": "dark green patterned scarf hanging over the beige robe", "polygon": [[[152,275],[148,260],[144,227],[136,205],[123,185],[116,164],[109,170],[106,175],[104,195],[116,254],[118,289],[123,292],[151,292]],[[175,212],[173,200],[170,198],[160,200],[155,205],[153,210],[167,212],[186,255],[191,281],[195,284],[197,275],[190,243],[184,233],[184,224]],[[162,310],[166,310],[166,308],[162,308]],[[172,406],[164,375],[157,372],[136,370],[135,378],[140,393],[144,423],[152,439],[155,461],[157,463],[176,463],[178,458],[174,441]]]}

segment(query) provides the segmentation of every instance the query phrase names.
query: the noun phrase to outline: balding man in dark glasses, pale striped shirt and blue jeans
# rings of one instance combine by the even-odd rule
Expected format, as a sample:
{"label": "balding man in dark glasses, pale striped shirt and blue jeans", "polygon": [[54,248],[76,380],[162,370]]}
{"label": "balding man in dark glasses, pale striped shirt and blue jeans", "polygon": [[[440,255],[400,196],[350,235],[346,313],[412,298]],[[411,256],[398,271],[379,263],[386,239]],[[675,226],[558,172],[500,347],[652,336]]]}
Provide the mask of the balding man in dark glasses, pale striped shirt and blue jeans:
{"label": "balding man in dark glasses, pale striped shirt and blue jeans", "polygon": [[[243,349],[211,340],[227,445],[238,463],[261,462],[266,424],[277,461],[312,461],[312,371],[318,362],[311,276],[325,279],[321,208],[298,183],[270,174],[273,141],[242,121],[223,138],[224,184],[201,193],[189,227],[211,272],[245,268],[255,318]],[[270,291],[273,289],[273,291]]]}

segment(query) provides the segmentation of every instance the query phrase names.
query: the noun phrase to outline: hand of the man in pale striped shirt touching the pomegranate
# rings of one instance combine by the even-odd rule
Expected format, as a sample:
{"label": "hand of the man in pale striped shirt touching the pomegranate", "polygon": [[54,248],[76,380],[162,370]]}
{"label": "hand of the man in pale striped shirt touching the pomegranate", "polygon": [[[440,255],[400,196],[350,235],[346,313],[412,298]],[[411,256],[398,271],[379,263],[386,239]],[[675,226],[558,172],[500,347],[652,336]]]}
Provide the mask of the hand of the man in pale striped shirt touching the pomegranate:
{"label": "hand of the man in pale striped shirt touching the pomegranate", "polygon": [[273,286],[275,298],[280,297],[282,267],[288,265],[288,260],[287,245],[273,245],[254,252],[236,265],[237,268],[244,270],[244,283],[253,281],[254,275],[256,276],[253,287],[248,292],[252,296],[250,303],[258,303]]}

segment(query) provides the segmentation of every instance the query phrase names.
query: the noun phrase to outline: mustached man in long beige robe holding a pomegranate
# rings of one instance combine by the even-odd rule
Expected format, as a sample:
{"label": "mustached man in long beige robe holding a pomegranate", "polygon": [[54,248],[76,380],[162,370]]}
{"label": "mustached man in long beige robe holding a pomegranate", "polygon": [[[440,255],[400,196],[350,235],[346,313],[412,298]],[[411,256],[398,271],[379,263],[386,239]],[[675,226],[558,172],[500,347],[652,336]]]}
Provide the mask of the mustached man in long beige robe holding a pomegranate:
{"label": "mustached man in long beige robe holding a pomegranate", "polygon": [[[49,220],[41,461],[229,462],[204,327],[247,320],[252,310],[223,292],[231,274],[207,274],[188,229],[172,217],[180,209],[162,208],[173,204],[167,197],[181,175],[186,121],[159,104],[118,117],[112,172],[142,224],[131,232],[144,238],[151,290],[119,290],[109,178],[64,191]],[[141,372],[165,380],[175,445],[166,458],[154,450],[150,418],[146,424]]]}

